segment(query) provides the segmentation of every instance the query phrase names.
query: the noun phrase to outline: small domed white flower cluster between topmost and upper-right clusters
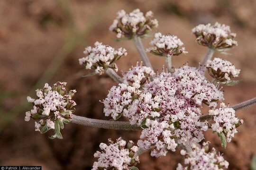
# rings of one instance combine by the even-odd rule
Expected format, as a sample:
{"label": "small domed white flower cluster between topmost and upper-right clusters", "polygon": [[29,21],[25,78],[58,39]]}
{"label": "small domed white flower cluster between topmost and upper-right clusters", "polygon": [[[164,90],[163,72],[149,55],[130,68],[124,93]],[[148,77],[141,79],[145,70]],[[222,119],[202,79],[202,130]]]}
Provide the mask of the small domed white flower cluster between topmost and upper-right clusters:
{"label": "small domed white flower cluster between topmost and upper-right clusters", "polygon": [[153,47],[146,49],[155,55],[174,56],[187,53],[183,42],[175,35],[155,33],[155,39],[150,42]]}

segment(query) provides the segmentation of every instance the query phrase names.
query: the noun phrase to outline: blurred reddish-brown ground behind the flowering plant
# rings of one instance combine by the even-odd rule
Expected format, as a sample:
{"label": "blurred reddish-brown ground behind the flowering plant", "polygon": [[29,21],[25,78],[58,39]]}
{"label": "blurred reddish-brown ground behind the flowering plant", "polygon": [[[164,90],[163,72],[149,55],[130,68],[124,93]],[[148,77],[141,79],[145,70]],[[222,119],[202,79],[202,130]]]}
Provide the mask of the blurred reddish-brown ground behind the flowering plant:
{"label": "blurred reddish-brown ground behind the flowering plant", "polygon": [[[77,115],[104,117],[99,100],[115,85],[108,76],[81,78],[89,73],[78,59],[83,49],[99,41],[115,48],[124,47],[128,56],[118,61],[119,70],[136,65],[139,56],[132,41],[115,42],[108,31],[116,12],[140,8],[152,10],[159,21],[157,31],[177,35],[189,51],[174,57],[174,66],[185,62],[198,66],[207,48],[199,46],[191,29],[201,23],[218,21],[237,33],[238,47],[230,53],[215,56],[228,59],[241,69],[238,85],[224,88],[225,102],[230,105],[256,96],[256,0],[0,0],[0,165],[41,165],[44,170],[90,170],[93,153],[101,142],[122,136],[137,141],[139,132],[124,132],[75,124],[65,125],[63,140],[51,140],[35,132],[34,121],[25,122],[25,111],[31,106],[26,96],[45,83],[68,82],[76,89]],[[153,35],[153,34],[151,34]],[[144,46],[152,38],[144,39]],[[164,59],[148,54],[153,66],[161,69]],[[119,74],[121,72],[119,71]],[[256,153],[256,107],[237,112],[245,123],[239,127],[227,149],[220,146],[215,134],[206,133],[231,170],[248,170]],[[173,170],[183,161],[179,151],[152,158],[144,153],[140,170]]]}

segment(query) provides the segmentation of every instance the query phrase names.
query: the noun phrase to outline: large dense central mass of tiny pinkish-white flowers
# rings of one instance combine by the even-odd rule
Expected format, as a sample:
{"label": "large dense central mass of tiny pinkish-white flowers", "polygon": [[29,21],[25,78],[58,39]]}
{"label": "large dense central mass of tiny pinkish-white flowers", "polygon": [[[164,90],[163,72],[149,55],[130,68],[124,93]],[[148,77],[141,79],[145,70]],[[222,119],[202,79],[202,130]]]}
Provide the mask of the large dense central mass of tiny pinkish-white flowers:
{"label": "large dense central mass of tiny pinkish-white flowers", "polygon": [[[208,129],[207,123],[200,121],[202,103],[216,105],[222,100],[223,93],[198,69],[183,66],[174,73],[155,76],[141,90],[124,84],[114,86],[103,103],[106,116],[111,114],[115,119],[123,115],[132,125],[144,127],[138,145],[147,149],[158,144],[151,154],[160,156],[166,149],[175,149],[171,138],[178,143],[200,142],[202,131]],[[166,130],[172,136],[168,140],[163,139]]]}

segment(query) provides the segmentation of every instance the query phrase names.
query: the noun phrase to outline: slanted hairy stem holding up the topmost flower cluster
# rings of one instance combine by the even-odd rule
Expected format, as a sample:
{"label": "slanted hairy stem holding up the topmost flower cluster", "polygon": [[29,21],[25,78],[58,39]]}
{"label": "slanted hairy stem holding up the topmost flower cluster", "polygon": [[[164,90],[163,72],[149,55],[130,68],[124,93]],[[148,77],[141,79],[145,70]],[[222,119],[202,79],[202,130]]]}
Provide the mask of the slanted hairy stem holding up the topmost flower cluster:
{"label": "slanted hairy stem holding up the topmost flower cluster", "polygon": [[143,64],[145,64],[146,67],[152,68],[152,65],[151,65],[151,63],[150,63],[150,61],[149,61],[149,59],[146,55],[146,51],[145,51],[145,49],[143,47],[143,44],[141,42],[141,38],[138,37],[138,36],[134,36],[133,42],[134,42],[134,44],[137,48],[137,51],[140,54],[140,57],[141,57],[141,60],[142,60]]}

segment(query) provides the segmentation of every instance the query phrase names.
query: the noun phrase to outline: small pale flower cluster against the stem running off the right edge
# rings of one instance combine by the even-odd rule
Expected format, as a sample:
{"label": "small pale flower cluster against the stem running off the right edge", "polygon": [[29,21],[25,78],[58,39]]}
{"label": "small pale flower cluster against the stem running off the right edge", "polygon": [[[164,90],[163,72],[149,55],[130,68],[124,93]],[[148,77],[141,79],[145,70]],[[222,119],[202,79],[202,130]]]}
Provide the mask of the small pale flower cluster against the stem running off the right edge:
{"label": "small pale flower cluster against the stem running off the right edge", "polygon": [[215,110],[209,110],[209,115],[213,116],[214,123],[211,124],[212,131],[223,134],[226,136],[227,141],[230,142],[234,137],[240,124],[243,120],[239,120],[235,115],[235,110],[229,108],[225,103],[220,103],[220,108]]}

